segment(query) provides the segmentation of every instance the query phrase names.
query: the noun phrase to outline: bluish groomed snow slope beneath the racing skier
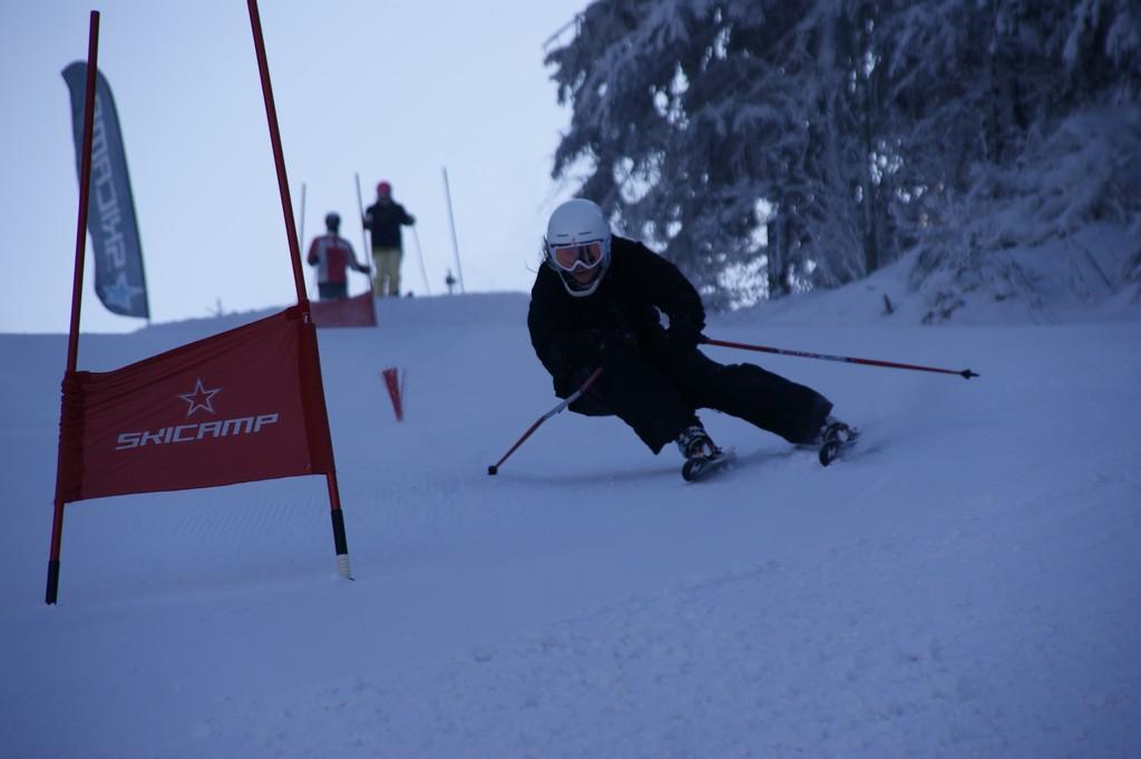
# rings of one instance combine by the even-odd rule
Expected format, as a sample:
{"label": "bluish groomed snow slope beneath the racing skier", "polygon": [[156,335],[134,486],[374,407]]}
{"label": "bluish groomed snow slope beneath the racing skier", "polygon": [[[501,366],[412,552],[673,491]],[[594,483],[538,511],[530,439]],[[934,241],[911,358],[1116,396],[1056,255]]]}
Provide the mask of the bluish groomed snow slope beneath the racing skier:
{"label": "bluish groomed snow slope beneath the racing skier", "polygon": [[[858,285],[755,309],[707,333],[982,377],[713,349],[828,395],[859,455],[823,469],[706,412],[742,460],[689,485],[674,451],[561,414],[493,478],[556,403],[526,302],[382,301],[374,330],[322,331],[356,582],[323,481],[296,478],[68,507],[56,607],[65,339],[0,336],[0,753],[1141,751],[1136,321],[920,328]],[[235,318],[84,336],[80,365]]]}

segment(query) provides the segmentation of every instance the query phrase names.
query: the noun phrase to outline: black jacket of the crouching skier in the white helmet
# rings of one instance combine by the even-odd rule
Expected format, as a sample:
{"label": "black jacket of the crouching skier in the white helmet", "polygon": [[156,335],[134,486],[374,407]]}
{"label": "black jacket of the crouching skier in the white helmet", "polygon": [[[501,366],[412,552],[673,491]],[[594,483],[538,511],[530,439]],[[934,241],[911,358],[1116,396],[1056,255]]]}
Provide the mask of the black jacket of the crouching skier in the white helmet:
{"label": "black jacket of the crouching skier in the white helmet", "polygon": [[575,298],[559,274],[544,264],[531,289],[527,328],[539,360],[551,373],[555,393],[574,393],[583,370],[598,366],[607,340],[661,349],[666,334],[661,315],[671,326],[705,328],[705,308],[697,290],[678,267],[646,245],[614,236],[610,266],[598,289]]}

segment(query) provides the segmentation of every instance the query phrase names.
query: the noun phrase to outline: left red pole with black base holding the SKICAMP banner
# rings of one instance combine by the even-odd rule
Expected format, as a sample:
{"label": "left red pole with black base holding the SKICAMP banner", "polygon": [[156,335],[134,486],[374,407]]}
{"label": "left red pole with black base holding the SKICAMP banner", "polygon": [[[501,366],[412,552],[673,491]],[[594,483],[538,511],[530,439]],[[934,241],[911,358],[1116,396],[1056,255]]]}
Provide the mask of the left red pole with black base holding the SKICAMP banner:
{"label": "left red pole with black base holding the SKICAMP banner", "polygon": [[[72,276],[72,314],[67,332],[67,366],[64,379],[75,373],[79,363],[79,316],[83,302],[83,261],[87,255],[87,210],[90,202],[91,143],[95,122],[95,75],[99,63],[99,11],[91,11],[90,31],[87,41],[87,89],[83,92],[83,147],[80,152],[79,169],[79,219],[75,223],[75,269]],[[59,410],[63,414],[63,406]],[[59,476],[63,471],[64,425],[59,425],[59,450],[56,454],[55,512],[51,517],[51,548],[48,555],[48,588],[43,601],[55,604],[59,595],[59,554],[64,541],[64,501],[59,494]]]}

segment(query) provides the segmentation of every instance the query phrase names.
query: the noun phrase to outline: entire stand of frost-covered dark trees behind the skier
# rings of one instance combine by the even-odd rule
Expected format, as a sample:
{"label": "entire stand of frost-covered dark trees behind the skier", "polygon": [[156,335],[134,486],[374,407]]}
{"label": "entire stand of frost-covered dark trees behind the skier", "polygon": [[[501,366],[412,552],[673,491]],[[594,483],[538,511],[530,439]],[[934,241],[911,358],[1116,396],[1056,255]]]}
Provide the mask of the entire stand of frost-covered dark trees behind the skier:
{"label": "entire stand of frost-covered dark trees behind the skier", "polygon": [[[1139,5],[597,0],[548,56],[573,108],[553,175],[714,307],[842,284],[914,248],[916,282],[978,269],[1010,244],[980,226],[1005,204],[1061,193],[1070,224],[1135,211],[1135,140],[1109,142],[1114,164],[1073,130],[1134,123]],[[1089,108],[1101,116],[1073,120]],[[1057,151],[1084,152],[1089,181],[1050,173]],[[1073,184],[1027,181],[1047,176]]]}

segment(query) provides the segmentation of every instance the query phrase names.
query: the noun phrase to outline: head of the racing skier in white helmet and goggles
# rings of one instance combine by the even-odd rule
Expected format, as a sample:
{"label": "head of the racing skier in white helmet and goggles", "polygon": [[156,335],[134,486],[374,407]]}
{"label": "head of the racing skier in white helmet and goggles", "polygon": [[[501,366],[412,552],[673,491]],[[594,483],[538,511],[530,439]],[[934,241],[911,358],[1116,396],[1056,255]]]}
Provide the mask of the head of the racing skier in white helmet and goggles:
{"label": "head of the racing skier in white helmet and goggles", "polygon": [[610,225],[597,203],[576,197],[555,209],[543,241],[547,264],[575,298],[598,289],[610,266]]}

